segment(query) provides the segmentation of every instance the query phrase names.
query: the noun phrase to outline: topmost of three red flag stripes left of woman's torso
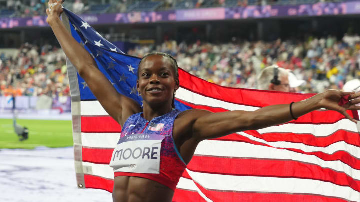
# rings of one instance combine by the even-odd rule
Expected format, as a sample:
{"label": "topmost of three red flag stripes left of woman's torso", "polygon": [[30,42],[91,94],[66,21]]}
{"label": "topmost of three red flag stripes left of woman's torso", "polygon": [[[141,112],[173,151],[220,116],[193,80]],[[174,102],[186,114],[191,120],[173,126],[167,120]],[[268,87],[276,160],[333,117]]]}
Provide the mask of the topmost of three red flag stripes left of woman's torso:
{"label": "topmost of three red flag stripes left of woman's torso", "polygon": [[121,125],[110,116],[81,116],[81,132],[119,133]]}

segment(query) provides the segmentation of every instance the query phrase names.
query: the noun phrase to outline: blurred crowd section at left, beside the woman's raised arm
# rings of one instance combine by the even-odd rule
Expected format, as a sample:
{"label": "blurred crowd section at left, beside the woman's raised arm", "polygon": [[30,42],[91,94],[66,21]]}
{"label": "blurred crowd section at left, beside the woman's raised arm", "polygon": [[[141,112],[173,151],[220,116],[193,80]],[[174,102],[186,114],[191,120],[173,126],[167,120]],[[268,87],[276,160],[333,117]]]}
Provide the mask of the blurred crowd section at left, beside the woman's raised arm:
{"label": "blurred crowd section at left, beside the woman's raised arm", "polygon": [[69,94],[65,55],[49,44],[23,44],[12,56],[0,52],[0,95]]}

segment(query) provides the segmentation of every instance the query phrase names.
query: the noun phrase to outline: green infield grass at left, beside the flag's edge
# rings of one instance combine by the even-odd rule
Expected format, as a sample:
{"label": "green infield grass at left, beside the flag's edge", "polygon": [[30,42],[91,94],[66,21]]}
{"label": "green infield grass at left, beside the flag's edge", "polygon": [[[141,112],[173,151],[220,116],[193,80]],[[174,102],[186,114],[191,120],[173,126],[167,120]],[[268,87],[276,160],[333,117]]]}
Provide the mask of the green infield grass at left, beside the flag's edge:
{"label": "green infield grass at left, beside the flag's edge", "polygon": [[72,127],[68,120],[18,119],[17,124],[29,130],[27,140],[19,141],[12,119],[0,119],[0,148],[33,149],[39,146],[72,146]]}

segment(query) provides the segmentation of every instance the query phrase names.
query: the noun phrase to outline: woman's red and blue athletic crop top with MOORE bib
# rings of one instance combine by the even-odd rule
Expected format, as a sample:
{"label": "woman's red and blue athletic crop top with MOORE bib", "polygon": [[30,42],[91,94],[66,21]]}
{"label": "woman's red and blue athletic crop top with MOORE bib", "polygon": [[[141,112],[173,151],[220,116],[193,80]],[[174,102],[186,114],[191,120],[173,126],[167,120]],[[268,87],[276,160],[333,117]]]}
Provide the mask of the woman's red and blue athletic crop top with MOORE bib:
{"label": "woman's red and blue athletic crop top with MOORE bib", "polygon": [[172,137],[175,118],[171,112],[148,121],[142,112],[125,122],[110,166],[116,176],[136,176],[161,183],[172,190],[186,168]]}

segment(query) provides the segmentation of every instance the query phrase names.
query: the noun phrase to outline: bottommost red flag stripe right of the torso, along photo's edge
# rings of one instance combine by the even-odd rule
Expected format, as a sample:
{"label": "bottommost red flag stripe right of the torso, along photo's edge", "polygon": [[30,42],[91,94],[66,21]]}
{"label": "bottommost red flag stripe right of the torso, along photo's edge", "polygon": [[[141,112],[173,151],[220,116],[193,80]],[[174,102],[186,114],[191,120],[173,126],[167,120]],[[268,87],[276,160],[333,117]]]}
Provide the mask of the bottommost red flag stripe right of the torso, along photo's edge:
{"label": "bottommost red flag stripe right of the torso, along photo's edge", "polygon": [[195,182],[202,193],[214,202],[348,202],[348,200],[302,193],[257,193],[207,190]]}

